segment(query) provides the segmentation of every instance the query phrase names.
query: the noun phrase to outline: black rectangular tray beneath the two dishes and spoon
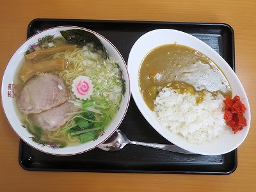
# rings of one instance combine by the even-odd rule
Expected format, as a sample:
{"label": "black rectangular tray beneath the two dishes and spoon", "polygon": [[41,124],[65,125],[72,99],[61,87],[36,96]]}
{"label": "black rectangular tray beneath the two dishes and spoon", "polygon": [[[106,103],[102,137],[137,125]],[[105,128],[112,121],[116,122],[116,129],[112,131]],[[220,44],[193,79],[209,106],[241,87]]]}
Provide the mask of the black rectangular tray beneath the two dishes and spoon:
{"label": "black rectangular tray beneath the two dishes and spoon", "polygon": [[[28,37],[54,26],[81,26],[110,40],[127,62],[136,40],[153,29],[177,29],[196,36],[227,61],[234,70],[234,31],[227,24],[184,22],[142,22],[114,20],[35,19],[29,23]],[[131,98],[119,129],[134,141],[169,143],[143,118]],[[20,140],[19,163],[29,171],[194,173],[228,175],[236,170],[237,149],[220,156],[177,154],[154,148],[127,145],[118,152],[99,148],[76,156],[52,156],[29,147]]]}

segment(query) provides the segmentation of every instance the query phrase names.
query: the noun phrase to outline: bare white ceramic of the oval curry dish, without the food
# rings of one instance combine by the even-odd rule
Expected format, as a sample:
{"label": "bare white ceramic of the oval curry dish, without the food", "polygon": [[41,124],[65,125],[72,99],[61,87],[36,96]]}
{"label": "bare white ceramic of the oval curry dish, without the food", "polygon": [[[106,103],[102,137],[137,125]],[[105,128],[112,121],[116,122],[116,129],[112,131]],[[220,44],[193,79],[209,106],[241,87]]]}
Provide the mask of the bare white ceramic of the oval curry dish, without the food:
{"label": "bare white ceramic of the oval curry dish, without the food", "polygon": [[[159,45],[174,44],[175,42],[177,44],[187,45],[188,47],[192,47],[193,49],[204,53],[221,68],[232,87],[233,95],[239,95],[247,109],[244,113],[244,116],[247,120],[247,126],[244,127],[242,131],[238,131],[236,134],[233,134],[232,131],[226,130],[218,138],[203,145],[196,145],[189,143],[182,136],[164,129],[161,127],[159,122],[157,122],[156,114],[153,111],[150,111],[150,109],[143,101],[143,98],[141,97],[138,85],[138,71],[141,65],[141,61],[143,58],[145,58],[149,51],[155,47],[158,47]],[[159,134],[166,138],[166,140],[181,148],[195,152],[196,154],[218,155],[225,154],[236,149],[246,138],[250,128],[251,115],[250,106],[246,97],[246,93],[244,92],[244,88],[228,63],[223,58],[221,58],[221,56],[216,51],[209,47],[209,45],[205,44],[198,38],[195,38],[194,36],[191,36],[182,31],[176,31],[172,29],[156,29],[154,31],[150,31],[145,35],[142,35],[133,45],[127,64],[131,78],[132,97],[134,98],[136,105],[148,123],[152,125],[152,127],[154,127],[154,129],[156,129]]]}

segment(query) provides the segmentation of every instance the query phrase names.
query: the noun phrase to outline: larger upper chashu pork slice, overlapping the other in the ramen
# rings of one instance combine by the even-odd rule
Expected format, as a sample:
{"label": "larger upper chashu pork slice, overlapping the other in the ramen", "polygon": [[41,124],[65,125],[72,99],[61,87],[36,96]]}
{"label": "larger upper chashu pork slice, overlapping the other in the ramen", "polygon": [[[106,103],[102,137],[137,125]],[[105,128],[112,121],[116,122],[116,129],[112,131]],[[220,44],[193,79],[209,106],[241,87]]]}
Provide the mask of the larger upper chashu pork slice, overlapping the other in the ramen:
{"label": "larger upper chashu pork slice, overlapping the other in the ramen", "polygon": [[40,113],[68,100],[63,80],[54,74],[38,74],[26,82],[17,99],[23,113]]}

